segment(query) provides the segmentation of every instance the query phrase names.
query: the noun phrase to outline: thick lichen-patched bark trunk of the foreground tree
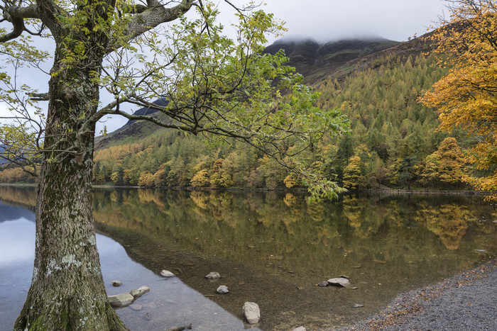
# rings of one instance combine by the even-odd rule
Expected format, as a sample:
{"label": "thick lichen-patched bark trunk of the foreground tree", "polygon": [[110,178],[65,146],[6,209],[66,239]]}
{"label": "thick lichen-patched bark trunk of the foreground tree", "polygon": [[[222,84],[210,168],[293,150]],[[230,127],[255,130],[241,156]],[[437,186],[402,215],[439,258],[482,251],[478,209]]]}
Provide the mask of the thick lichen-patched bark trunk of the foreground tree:
{"label": "thick lichen-patched bark trunk of the foreground tree", "polygon": [[15,330],[126,330],[107,301],[92,215],[93,130],[78,131],[98,103],[102,61],[58,67],[50,79],[45,152],[36,206],[31,288]]}

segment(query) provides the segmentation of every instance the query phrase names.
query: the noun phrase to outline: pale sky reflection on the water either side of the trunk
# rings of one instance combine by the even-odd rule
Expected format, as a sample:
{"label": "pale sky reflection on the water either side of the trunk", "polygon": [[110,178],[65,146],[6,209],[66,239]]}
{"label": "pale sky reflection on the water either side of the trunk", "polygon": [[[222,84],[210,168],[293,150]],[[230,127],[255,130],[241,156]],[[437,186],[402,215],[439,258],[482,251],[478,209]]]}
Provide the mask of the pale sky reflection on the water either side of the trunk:
{"label": "pale sky reflection on the water either side of the trunk", "polygon": [[[2,194],[0,197],[6,198]],[[0,218],[0,328],[12,330],[31,284],[35,216],[24,208],[0,203]],[[139,298],[133,308],[117,311],[131,330],[167,330],[190,323],[195,325],[195,330],[244,330],[239,318],[180,279],[164,279],[133,262],[115,240],[97,234],[97,247],[109,295],[129,292],[143,285],[151,288],[151,292]],[[114,279],[119,279],[123,285],[111,286]]]}

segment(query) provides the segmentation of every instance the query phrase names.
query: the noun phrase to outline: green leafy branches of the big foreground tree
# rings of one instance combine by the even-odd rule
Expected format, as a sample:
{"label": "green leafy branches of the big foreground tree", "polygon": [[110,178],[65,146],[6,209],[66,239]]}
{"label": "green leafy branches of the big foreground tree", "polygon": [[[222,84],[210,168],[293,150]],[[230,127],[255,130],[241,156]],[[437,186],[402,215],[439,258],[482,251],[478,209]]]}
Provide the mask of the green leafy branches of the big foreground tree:
{"label": "green leafy branches of the big foreground tree", "polygon": [[[191,6],[194,2],[181,4]],[[130,1],[116,1],[115,6],[104,1],[62,1],[58,6],[58,30],[50,28],[52,35],[43,34],[43,26],[40,30],[40,35],[53,38],[61,50],[58,69],[50,72],[51,76],[91,67],[89,64],[103,55],[102,67],[91,72],[90,77],[92,84],[114,98],[94,113],[70,118],[81,123],[79,127],[68,125],[67,129],[60,125],[64,128],[57,133],[60,139],[75,141],[76,145],[75,137],[91,132],[94,123],[108,115],[150,120],[165,128],[205,135],[209,140],[232,138],[251,145],[287,167],[310,186],[315,197],[331,198],[340,191],[337,184],[320,176],[320,169],[310,164],[309,155],[324,135],[348,130],[348,121],[339,111],[315,106],[319,94],[302,84],[302,76],[293,67],[285,65],[288,57],[283,51],[263,54],[268,33],[284,30],[273,14],[237,11],[233,40],[217,23],[219,11],[211,1],[199,1],[193,18],[190,13],[190,17],[180,15],[178,23],[156,28],[140,25],[138,15],[148,17],[145,15],[149,9]],[[38,20],[33,22],[37,24]],[[44,52],[30,53],[35,49],[30,43],[22,42],[16,50],[4,54],[13,57],[18,52],[23,57],[18,63],[23,64],[46,57]],[[0,44],[2,50],[7,44]],[[8,75],[1,77],[6,85],[16,86]],[[28,87],[22,91],[31,96],[37,92]],[[11,130],[18,130],[17,139],[30,146],[30,152],[16,149],[5,135],[0,136],[1,143],[17,153],[17,159],[35,162],[36,151],[50,154],[50,147],[40,143],[44,138],[43,117],[39,111],[35,118],[29,112],[29,108],[38,107],[35,99],[19,96],[21,92],[16,88],[2,89],[0,93],[0,101],[10,103],[11,111],[18,112],[13,117],[19,125],[13,125]],[[153,104],[155,99],[164,99],[165,106]],[[160,112],[158,116],[134,115],[121,110],[124,103]],[[6,126],[3,128],[6,130]],[[75,154],[81,152],[79,146],[74,150]],[[49,160],[58,162],[57,158]]]}

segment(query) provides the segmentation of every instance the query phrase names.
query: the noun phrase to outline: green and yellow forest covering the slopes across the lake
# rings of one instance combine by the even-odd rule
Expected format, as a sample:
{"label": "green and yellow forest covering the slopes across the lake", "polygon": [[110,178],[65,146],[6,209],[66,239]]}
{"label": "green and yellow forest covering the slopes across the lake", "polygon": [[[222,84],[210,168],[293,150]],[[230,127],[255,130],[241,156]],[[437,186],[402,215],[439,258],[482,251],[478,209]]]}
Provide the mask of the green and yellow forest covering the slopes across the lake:
{"label": "green and yellow forest covering the slopes across the lake", "polygon": [[[390,55],[344,82],[328,80],[318,86],[317,106],[339,108],[348,116],[351,132],[315,146],[309,157],[316,169],[347,189],[463,187],[466,164],[458,144],[466,142],[436,132],[437,113],[417,101],[443,74],[430,57]],[[94,184],[249,189],[300,185],[255,149],[206,144],[167,129],[96,151]]]}

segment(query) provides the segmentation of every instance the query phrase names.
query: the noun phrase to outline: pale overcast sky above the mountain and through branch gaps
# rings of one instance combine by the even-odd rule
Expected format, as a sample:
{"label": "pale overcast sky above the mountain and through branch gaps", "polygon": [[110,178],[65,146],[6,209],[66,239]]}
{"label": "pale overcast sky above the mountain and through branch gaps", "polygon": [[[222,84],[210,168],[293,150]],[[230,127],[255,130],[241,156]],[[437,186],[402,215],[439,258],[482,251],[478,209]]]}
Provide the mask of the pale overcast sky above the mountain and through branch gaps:
{"label": "pale overcast sky above the mountain and through branch gaps", "polygon": [[[234,10],[215,0],[222,10],[220,20],[225,26],[234,21]],[[248,0],[231,0],[241,5]],[[314,38],[319,42],[339,38],[376,35],[390,40],[405,41],[409,37],[426,33],[444,11],[443,0],[266,0],[261,9],[275,14],[285,21],[288,38]],[[274,38],[270,38],[272,43]],[[51,62],[51,60],[49,60]],[[46,91],[48,75],[34,75],[32,71],[22,75],[40,91]],[[20,77],[20,78],[21,78]],[[102,102],[107,103],[106,96]],[[0,113],[4,108],[0,105]],[[124,105],[122,109],[133,109]],[[5,109],[5,108],[4,108]],[[116,117],[97,125],[97,134],[107,125],[108,132],[120,128],[125,118]]]}

